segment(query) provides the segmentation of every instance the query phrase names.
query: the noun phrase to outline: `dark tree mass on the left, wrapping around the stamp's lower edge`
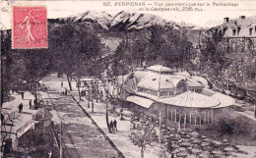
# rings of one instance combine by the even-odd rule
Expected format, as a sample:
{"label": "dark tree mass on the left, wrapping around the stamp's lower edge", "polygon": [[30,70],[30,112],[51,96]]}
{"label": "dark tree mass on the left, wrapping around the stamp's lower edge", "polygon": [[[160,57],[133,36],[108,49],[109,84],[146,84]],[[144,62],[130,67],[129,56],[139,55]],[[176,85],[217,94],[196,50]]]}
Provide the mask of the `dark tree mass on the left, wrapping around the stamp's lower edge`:
{"label": "dark tree mass on the left, wrapping around the stamp's lower edge", "polygon": [[53,72],[67,76],[70,90],[73,75],[96,72],[93,61],[100,56],[101,45],[96,33],[86,26],[50,22],[47,49],[12,49],[11,33],[1,30],[1,103],[11,89],[27,82],[33,91],[40,79]]}

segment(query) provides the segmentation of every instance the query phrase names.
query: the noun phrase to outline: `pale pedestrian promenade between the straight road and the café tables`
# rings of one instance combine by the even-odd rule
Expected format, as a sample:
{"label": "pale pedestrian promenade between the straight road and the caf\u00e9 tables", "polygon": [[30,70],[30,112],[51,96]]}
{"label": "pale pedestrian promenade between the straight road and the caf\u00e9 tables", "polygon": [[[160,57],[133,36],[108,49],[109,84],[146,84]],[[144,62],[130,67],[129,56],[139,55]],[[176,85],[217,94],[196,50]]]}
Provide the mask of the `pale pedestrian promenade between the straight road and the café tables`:
{"label": "pale pedestrian promenade between the straight road and the caf\u00e9 tables", "polygon": [[[68,87],[67,87],[68,88]],[[120,109],[116,109],[116,112],[109,112],[109,123],[110,121],[117,121],[117,130],[118,132],[108,133],[106,121],[105,121],[105,111],[106,111],[106,105],[105,103],[102,103],[98,101],[96,103],[96,99],[94,100],[95,108],[94,113],[92,113],[92,103],[90,104],[90,108],[88,108],[88,101],[84,97],[82,100],[79,100],[79,95],[77,90],[73,90],[72,95],[74,98],[78,101],[78,103],[83,107],[90,116],[94,119],[96,122],[96,125],[106,133],[106,135],[114,142],[114,144],[118,147],[118,149],[124,154],[127,158],[138,158],[141,157],[141,147],[134,145],[134,143],[131,141],[129,137],[130,132],[130,118],[125,118],[125,120],[120,120],[120,116],[118,116],[118,112]],[[106,95],[103,90],[103,95]],[[113,105],[108,103],[109,111],[112,111]],[[128,113],[128,111],[124,111],[124,113]],[[157,129],[158,131],[158,129]],[[153,146],[148,145],[144,151],[145,157],[150,158],[159,158],[159,144],[153,143]]]}

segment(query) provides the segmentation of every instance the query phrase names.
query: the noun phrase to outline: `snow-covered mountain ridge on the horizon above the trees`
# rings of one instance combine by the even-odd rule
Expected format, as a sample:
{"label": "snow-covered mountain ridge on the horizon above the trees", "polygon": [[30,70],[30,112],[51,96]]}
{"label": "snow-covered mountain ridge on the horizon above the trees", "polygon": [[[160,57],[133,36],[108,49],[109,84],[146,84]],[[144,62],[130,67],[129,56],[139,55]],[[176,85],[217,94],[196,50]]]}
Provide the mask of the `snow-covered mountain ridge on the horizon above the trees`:
{"label": "snow-covered mountain ridge on the horizon above the trees", "polygon": [[119,12],[110,15],[105,12],[85,12],[79,15],[69,16],[58,20],[66,20],[74,24],[94,25],[107,30],[135,30],[150,26],[173,26],[180,29],[181,26],[173,22],[167,22],[156,15]]}

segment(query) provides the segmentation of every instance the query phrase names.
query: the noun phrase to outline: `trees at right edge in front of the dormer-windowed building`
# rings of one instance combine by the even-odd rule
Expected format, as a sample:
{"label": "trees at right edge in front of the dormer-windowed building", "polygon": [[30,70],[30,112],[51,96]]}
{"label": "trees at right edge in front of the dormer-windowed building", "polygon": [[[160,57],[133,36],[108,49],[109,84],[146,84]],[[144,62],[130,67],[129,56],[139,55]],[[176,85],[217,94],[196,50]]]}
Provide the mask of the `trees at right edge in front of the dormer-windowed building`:
{"label": "trees at right edge in front of the dormer-windowed building", "polygon": [[218,32],[210,30],[201,38],[200,71],[213,80],[231,79],[242,87],[247,83],[255,88],[256,40],[224,38]]}

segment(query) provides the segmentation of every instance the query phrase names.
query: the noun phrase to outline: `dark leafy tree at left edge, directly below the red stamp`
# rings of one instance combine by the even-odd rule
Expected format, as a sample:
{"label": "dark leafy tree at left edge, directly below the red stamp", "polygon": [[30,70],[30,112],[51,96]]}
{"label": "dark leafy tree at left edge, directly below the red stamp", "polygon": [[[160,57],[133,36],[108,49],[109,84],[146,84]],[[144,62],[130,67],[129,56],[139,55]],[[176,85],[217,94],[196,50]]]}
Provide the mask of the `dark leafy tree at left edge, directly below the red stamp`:
{"label": "dark leafy tree at left edge, directly below the red stamp", "polygon": [[[34,92],[36,84],[51,71],[52,54],[48,49],[12,49],[11,31],[7,30],[1,37],[2,67],[1,91],[3,95],[10,89],[21,90],[24,82]],[[42,60],[43,59],[43,60]],[[35,92],[34,92],[35,94]],[[37,98],[37,96],[35,95]]]}

